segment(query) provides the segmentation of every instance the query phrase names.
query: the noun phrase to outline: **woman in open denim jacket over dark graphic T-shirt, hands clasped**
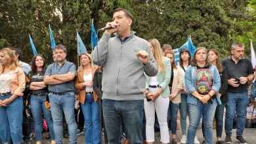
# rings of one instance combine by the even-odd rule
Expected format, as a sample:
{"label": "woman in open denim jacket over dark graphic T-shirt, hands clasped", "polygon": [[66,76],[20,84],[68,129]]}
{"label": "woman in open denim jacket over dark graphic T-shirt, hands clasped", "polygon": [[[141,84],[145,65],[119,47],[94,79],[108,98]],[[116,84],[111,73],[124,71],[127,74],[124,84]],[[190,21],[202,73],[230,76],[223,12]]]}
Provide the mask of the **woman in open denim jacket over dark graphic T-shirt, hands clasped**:
{"label": "woman in open denim jacket over dark graphic T-shirt, hands clasped", "polygon": [[194,143],[196,130],[203,118],[205,143],[213,143],[213,117],[217,107],[216,94],[221,87],[221,78],[215,65],[207,58],[205,47],[199,47],[194,52],[191,65],[186,69],[185,84],[188,90],[188,139]]}

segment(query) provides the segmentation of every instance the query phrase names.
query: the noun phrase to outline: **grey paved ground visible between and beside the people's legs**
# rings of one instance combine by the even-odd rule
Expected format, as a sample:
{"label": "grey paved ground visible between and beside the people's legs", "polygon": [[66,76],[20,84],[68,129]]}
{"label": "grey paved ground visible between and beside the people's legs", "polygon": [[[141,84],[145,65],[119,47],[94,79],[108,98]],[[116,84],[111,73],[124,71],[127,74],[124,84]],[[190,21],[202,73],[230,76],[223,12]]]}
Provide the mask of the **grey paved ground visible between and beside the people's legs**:
{"label": "grey paved ground visible between and beside the people's legs", "polygon": [[[181,135],[181,131],[177,131],[178,135]],[[238,144],[238,142],[235,140],[236,139],[236,130],[234,129],[232,131],[233,135],[232,135],[232,141],[233,144]],[[171,133],[170,133],[171,134]],[[50,144],[51,140],[49,139],[45,139],[45,135],[47,135],[46,133],[43,134],[43,143],[45,144]],[[200,141],[200,143],[202,143],[203,141],[203,135],[202,135],[202,130],[198,130],[197,134],[198,139]],[[160,143],[160,132],[155,132],[155,136],[156,136],[156,142],[155,143]],[[213,130],[213,137],[216,137],[216,132],[215,130]],[[223,139],[224,139],[224,132],[223,132]],[[244,130],[244,139],[247,140],[248,144],[256,144],[256,129],[251,128],[251,129],[245,129]],[[35,143],[35,140],[33,139],[31,141],[31,143]],[[79,134],[77,137],[77,143],[85,143],[85,135],[83,134]],[[102,141],[102,143],[104,143],[104,141]],[[214,138],[214,143],[215,143],[215,138]],[[68,144],[68,139],[64,139],[64,144]]]}

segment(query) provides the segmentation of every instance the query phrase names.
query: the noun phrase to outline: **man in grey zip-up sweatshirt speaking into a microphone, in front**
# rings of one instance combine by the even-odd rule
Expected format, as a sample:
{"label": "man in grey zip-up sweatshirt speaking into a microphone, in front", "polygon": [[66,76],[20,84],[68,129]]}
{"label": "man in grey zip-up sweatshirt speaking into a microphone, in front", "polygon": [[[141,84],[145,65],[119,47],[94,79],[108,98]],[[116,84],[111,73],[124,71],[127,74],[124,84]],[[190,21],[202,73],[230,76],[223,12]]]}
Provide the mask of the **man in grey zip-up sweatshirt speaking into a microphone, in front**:
{"label": "man in grey zip-up sweatshirt speaking into a microphone, in front", "polygon": [[[144,72],[158,73],[148,42],[131,31],[133,16],[125,9],[115,9],[108,22],[93,61],[104,63],[102,78],[103,116],[109,143],[121,143],[121,121],[130,143],[142,143],[143,99],[146,86]],[[115,37],[110,37],[114,33]],[[97,52],[98,50],[98,52]]]}

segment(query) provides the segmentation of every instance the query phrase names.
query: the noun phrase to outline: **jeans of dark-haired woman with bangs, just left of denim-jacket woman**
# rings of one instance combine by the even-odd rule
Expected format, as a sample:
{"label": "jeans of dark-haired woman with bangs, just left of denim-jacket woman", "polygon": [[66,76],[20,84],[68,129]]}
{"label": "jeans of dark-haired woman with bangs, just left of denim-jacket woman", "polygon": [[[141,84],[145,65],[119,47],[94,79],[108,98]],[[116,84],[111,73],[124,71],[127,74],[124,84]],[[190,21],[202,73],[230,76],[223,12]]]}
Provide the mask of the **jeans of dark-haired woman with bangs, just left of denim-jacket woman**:
{"label": "jeans of dark-haired woman with bangs, just left of denim-jacket woman", "polygon": [[181,103],[180,103],[180,114],[181,114],[181,132],[182,135],[186,135],[186,116],[188,115],[188,102],[187,96],[181,94]]}

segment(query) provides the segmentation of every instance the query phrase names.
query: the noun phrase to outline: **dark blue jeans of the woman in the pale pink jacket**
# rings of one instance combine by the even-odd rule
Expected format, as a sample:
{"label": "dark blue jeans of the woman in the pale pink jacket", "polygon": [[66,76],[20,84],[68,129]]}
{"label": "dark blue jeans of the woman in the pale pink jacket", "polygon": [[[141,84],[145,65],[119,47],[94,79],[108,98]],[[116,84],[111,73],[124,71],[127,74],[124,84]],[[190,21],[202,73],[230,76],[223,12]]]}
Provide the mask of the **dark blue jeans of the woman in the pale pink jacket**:
{"label": "dark blue jeans of the woman in the pale pink jacket", "polygon": [[179,104],[170,101],[169,109],[171,113],[171,134],[176,134],[177,131],[177,114],[179,111]]}

